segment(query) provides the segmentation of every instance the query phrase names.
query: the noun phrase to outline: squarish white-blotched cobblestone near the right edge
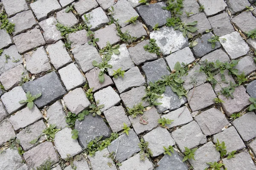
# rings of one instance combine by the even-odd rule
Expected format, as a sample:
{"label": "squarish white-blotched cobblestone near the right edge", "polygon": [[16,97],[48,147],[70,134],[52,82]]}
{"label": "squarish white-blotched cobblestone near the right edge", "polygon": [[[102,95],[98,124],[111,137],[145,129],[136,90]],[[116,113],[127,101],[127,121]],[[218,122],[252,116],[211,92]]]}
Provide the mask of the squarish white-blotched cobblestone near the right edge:
{"label": "squarish white-blotched cobblestone near the right edge", "polygon": [[[223,40],[225,38],[226,40]],[[233,32],[220,37],[220,42],[231,59],[244,56],[249,51],[249,47],[238,32]]]}

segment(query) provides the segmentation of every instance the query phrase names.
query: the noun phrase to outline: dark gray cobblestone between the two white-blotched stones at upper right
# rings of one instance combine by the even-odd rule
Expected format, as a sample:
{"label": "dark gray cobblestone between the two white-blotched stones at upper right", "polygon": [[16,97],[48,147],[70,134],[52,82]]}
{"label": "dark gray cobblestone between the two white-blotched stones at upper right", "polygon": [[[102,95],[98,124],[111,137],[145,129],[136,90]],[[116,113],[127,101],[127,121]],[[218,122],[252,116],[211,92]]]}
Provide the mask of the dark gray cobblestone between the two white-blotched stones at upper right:
{"label": "dark gray cobblestone between the two white-blotched stones at upper right", "polygon": [[209,52],[212,52],[221,47],[221,44],[219,42],[216,42],[215,48],[212,49],[212,44],[208,42],[208,39],[212,38],[212,36],[214,35],[209,32],[207,34],[204,34],[201,38],[197,38],[195,40],[196,42],[198,42],[198,44],[192,48],[192,51],[195,54],[196,58],[201,58],[205,54],[208,54]]}

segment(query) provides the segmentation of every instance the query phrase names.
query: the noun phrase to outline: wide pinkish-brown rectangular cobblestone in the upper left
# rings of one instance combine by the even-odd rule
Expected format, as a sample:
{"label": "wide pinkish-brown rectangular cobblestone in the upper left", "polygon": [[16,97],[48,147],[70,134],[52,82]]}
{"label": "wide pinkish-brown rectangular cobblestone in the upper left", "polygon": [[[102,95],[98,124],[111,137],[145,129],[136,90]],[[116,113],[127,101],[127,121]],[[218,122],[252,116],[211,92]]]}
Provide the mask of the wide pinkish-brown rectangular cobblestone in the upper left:
{"label": "wide pinkish-brown rectangular cobblestone in the upper left", "polygon": [[45,45],[44,37],[40,29],[32,29],[26,33],[22,33],[13,37],[13,41],[20,54],[32,50],[34,48]]}

